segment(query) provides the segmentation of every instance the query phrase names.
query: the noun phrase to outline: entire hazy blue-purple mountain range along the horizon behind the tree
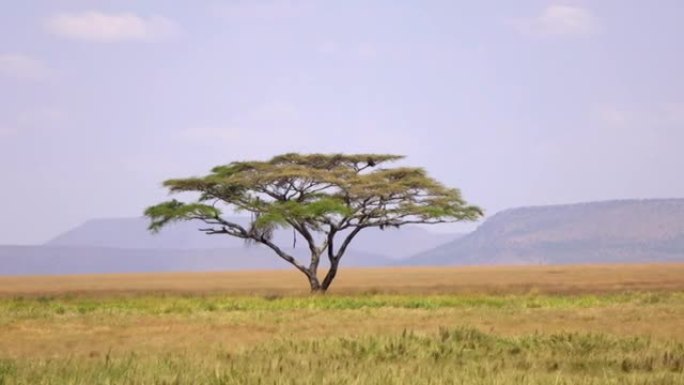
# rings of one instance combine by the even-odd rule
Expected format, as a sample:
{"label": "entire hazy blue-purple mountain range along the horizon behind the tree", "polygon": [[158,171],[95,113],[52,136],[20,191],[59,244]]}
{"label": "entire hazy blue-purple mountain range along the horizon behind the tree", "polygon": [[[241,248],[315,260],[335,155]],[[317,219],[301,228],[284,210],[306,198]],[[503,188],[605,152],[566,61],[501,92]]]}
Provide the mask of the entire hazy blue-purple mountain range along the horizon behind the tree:
{"label": "entire hazy blue-purple mountain range along the horizon behind the tree", "polygon": [[[245,218],[233,218],[246,223]],[[144,218],[96,219],[40,246],[0,246],[0,275],[278,269],[262,246],[181,223],[153,235]],[[275,241],[306,260],[301,237]],[[296,244],[295,244],[296,243]],[[361,232],[344,266],[684,262],[684,199],[623,200],[502,211],[474,232],[421,227]]]}

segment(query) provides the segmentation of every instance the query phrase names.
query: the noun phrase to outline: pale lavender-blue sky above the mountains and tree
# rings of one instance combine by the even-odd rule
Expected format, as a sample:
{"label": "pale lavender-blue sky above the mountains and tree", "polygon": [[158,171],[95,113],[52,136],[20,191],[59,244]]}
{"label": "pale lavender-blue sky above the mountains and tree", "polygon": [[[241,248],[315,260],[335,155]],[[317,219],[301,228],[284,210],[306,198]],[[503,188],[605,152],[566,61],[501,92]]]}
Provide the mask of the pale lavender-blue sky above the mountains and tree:
{"label": "pale lavender-blue sky above the mountains and tree", "polygon": [[0,244],[289,151],[405,154],[488,214],[684,197],[682,20],[679,0],[0,0]]}

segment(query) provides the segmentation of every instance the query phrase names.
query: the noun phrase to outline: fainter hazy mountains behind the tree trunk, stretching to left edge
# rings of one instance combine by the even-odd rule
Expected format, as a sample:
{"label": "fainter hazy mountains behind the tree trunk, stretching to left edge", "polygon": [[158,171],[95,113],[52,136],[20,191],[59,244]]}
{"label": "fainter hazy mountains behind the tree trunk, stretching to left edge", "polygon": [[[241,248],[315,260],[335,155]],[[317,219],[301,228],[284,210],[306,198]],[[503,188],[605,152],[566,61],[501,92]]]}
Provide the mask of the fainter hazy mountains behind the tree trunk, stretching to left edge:
{"label": "fainter hazy mountains behind the tree trunk, stretching to left edge", "polygon": [[[246,218],[231,218],[245,224]],[[178,223],[157,234],[145,218],[94,219],[39,246],[0,246],[0,275],[87,274],[169,271],[280,269],[290,265],[270,249],[241,239],[206,235],[202,223]],[[367,229],[349,247],[343,266],[386,266],[458,238],[421,227]],[[307,260],[307,246],[291,230],[274,241]],[[325,267],[327,259],[321,264]]]}

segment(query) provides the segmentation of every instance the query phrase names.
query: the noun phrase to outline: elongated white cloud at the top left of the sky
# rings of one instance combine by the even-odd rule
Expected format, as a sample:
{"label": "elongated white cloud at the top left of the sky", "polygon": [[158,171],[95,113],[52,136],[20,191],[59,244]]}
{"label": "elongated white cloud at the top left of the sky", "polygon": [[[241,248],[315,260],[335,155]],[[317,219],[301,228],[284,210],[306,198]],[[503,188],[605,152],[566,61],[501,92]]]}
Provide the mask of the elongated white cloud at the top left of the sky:
{"label": "elongated white cloud at the top left of the sky", "polygon": [[47,19],[45,28],[64,38],[100,43],[159,41],[179,33],[178,25],[162,16],[147,18],[133,13],[58,13]]}

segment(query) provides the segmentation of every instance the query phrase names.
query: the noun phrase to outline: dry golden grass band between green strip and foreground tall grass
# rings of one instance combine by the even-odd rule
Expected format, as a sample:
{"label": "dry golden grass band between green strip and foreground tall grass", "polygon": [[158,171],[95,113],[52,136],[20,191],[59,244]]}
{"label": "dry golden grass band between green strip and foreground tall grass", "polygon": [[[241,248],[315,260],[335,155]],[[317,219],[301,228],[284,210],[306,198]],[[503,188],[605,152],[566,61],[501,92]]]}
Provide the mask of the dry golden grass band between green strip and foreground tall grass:
{"label": "dry golden grass band between green strip and foreground tall grass", "polygon": [[0,358],[88,357],[138,352],[239,351],[274,339],[392,336],[473,327],[505,336],[605,333],[684,341],[684,303],[598,307],[340,309],[194,314],[64,314],[0,326]]}

